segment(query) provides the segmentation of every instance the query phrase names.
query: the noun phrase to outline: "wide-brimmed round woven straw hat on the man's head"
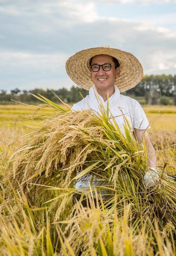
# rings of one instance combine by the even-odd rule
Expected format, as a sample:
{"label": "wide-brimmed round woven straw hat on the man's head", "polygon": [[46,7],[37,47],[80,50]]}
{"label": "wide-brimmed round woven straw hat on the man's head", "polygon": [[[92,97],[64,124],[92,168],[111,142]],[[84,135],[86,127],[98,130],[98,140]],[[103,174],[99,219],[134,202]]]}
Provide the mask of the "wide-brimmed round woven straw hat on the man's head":
{"label": "wide-brimmed round woven straw hat on the man's head", "polygon": [[90,59],[93,56],[106,54],[117,58],[120,64],[120,75],[115,79],[114,84],[120,92],[125,92],[136,86],[143,76],[143,68],[138,59],[130,52],[100,46],[76,52],[68,58],[65,68],[68,76],[76,85],[89,90],[94,84],[91,79]]}

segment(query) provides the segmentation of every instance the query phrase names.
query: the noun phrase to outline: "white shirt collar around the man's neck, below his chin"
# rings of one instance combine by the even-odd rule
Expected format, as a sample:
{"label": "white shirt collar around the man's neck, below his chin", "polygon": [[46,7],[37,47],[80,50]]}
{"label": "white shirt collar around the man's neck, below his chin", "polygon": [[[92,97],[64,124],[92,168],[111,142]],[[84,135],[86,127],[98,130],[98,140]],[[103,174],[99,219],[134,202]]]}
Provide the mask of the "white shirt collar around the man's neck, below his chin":
{"label": "white shirt collar around the man's neck, below his chin", "polygon": [[[90,88],[89,97],[90,97],[90,100],[93,102],[97,102],[97,103],[100,102],[104,106],[107,105],[107,101],[103,100],[102,96],[97,92],[95,85],[93,85]],[[119,98],[120,98],[120,90],[116,85],[114,85],[114,93],[111,95],[111,97],[109,97],[109,107],[110,106],[112,107],[114,104],[117,104]]]}

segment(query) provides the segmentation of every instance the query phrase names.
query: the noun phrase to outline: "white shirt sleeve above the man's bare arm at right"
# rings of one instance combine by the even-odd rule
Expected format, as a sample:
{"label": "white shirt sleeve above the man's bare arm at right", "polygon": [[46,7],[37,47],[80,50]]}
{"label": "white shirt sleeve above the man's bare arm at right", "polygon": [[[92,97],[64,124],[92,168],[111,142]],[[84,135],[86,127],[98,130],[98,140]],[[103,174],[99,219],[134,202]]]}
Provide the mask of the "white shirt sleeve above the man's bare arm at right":
{"label": "white shirt sleeve above the man's bare arm at right", "polygon": [[146,114],[138,101],[136,101],[136,107],[134,107],[133,127],[139,130],[151,128]]}

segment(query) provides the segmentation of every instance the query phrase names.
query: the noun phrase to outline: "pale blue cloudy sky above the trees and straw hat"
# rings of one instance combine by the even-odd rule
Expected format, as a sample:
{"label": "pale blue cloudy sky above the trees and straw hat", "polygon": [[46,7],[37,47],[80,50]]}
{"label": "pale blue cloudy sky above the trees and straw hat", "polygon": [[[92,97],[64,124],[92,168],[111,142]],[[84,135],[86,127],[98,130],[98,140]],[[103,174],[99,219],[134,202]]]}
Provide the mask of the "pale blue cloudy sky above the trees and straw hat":
{"label": "pale blue cloudy sky above the trees and straw hat", "polygon": [[66,60],[102,45],[175,75],[176,0],[0,0],[0,90],[69,89]]}

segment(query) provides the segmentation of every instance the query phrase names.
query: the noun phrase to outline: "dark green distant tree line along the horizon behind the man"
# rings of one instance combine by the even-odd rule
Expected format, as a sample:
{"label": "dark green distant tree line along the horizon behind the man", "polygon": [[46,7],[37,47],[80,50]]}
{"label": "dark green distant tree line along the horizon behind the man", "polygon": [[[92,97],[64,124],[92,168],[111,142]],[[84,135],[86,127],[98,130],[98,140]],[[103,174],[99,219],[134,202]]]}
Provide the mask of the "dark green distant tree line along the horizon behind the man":
{"label": "dark green distant tree line along the horizon behind the man", "polygon": [[[58,95],[58,97],[61,98],[64,102],[68,103],[80,101],[82,97],[86,97],[86,95],[88,95],[88,90],[84,90],[77,86],[72,86],[70,90],[62,88],[52,91],[55,92],[55,94]],[[15,88],[11,90],[11,93],[7,93],[6,90],[0,90],[0,104],[5,104],[7,102],[12,104],[11,99],[20,102],[33,102],[38,104],[39,100],[31,95],[31,93],[35,95],[38,95],[39,93],[52,101],[56,101],[56,96],[51,92],[51,89],[33,89],[21,91],[18,88]],[[153,97],[153,99],[165,97],[165,100],[167,97],[172,97],[175,99],[176,75],[144,76],[142,81],[140,81],[136,87],[124,92],[123,94],[127,96],[133,96],[134,98],[145,97],[146,103],[150,100],[150,97]],[[175,102],[176,100],[173,100],[173,103],[176,105]]]}

